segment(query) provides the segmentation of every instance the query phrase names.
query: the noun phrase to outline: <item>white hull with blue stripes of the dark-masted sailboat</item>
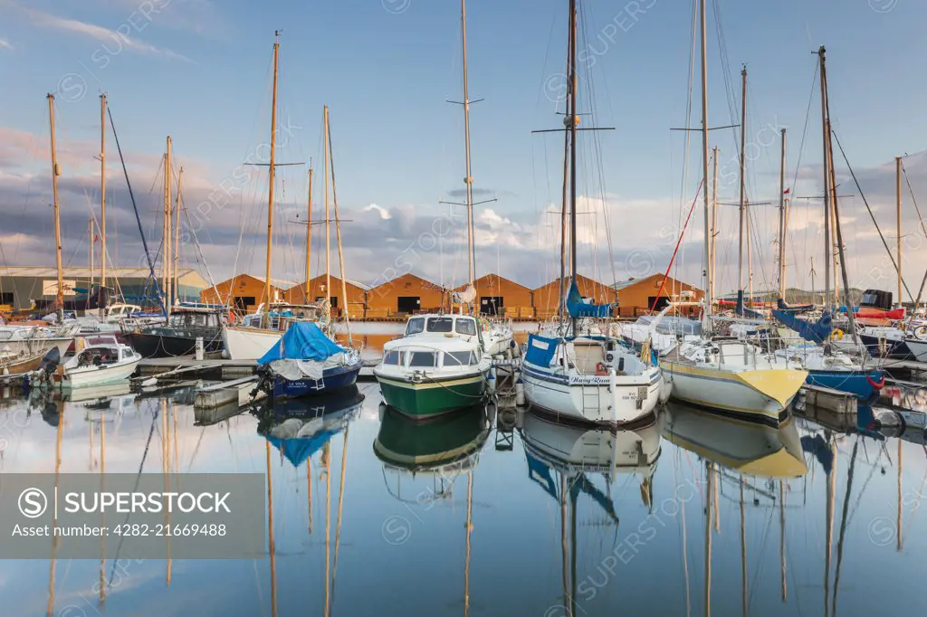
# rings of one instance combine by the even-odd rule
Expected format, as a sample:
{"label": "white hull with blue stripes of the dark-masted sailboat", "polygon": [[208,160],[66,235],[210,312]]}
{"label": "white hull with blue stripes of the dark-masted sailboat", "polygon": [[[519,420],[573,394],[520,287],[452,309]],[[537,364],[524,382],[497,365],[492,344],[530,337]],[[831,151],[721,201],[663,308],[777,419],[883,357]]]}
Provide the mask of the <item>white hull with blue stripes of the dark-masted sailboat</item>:
{"label": "white hull with blue stripes of the dark-masted sailboat", "polygon": [[663,387],[661,371],[640,376],[616,376],[614,394],[609,377],[571,380],[523,364],[522,381],[528,408],[558,422],[627,425],[650,419]]}

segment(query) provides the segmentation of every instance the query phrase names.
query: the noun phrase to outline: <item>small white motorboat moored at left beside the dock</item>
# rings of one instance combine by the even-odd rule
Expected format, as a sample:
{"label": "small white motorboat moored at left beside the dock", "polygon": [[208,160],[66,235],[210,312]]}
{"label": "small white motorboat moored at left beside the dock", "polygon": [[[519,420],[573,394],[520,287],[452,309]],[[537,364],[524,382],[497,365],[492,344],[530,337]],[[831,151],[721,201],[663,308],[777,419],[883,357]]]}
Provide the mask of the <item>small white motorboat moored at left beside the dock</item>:
{"label": "small white motorboat moored at left beside the dock", "polygon": [[142,359],[111,334],[87,336],[83,341],[83,348],[64,363],[35,371],[35,382],[62,388],[115,384],[132,376]]}

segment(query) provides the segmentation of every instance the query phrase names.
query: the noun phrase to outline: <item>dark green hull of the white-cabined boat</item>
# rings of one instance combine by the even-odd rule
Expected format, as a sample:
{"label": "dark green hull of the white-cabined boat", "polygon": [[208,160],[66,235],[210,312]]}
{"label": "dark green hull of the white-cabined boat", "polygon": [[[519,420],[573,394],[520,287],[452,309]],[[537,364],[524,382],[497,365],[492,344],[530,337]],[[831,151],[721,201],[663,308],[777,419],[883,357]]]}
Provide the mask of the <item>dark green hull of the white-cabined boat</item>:
{"label": "dark green hull of the white-cabined boat", "polygon": [[423,382],[385,377],[377,371],[374,374],[387,405],[416,420],[473,407],[487,391],[488,374],[484,372]]}

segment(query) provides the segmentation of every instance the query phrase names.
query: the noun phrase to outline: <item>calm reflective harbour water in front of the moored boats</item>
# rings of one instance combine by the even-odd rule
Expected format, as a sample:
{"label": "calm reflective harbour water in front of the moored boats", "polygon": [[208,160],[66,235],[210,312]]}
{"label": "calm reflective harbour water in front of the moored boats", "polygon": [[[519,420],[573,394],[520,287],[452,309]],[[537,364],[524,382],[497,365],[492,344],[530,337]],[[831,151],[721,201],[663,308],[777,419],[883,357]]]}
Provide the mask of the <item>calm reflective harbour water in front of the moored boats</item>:
{"label": "calm reflective harbour water in front of the moored boats", "polygon": [[922,614],[917,443],[679,406],[616,435],[492,409],[414,426],[375,383],[311,421],[189,398],[6,398],[2,472],[58,449],[62,472],[161,472],[166,410],[175,469],[268,474],[273,554],[127,561],[104,600],[99,560],[57,560],[52,586],[49,561],[0,560],[3,615]]}

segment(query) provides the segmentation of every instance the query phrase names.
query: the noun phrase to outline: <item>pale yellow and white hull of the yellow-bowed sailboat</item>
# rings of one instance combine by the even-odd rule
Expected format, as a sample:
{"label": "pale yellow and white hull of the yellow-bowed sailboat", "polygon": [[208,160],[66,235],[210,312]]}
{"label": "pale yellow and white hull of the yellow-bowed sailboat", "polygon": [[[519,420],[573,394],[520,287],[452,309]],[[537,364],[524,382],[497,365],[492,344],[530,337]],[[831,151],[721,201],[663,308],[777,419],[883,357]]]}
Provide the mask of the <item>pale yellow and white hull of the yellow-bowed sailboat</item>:
{"label": "pale yellow and white hull of the yellow-bowed sailboat", "polygon": [[773,427],[788,418],[789,406],[807,377],[806,371],[783,369],[722,371],[669,361],[660,366],[672,384],[671,398]]}

